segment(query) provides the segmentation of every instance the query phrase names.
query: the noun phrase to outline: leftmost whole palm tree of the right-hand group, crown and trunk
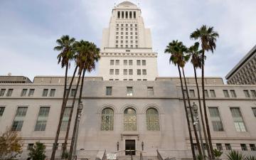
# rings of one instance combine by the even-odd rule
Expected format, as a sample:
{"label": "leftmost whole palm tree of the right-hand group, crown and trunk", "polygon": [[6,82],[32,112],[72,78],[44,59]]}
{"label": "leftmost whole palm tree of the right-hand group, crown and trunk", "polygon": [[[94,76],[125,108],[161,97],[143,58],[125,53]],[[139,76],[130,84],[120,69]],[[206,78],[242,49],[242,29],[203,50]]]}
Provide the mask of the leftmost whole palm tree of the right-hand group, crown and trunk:
{"label": "leftmost whole palm tree of the right-hand group, crown and trunk", "polygon": [[191,125],[190,125],[189,118],[188,118],[188,110],[186,107],[186,100],[185,100],[185,95],[183,92],[183,82],[182,82],[182,78],[181,78],[181,69],[180,69],[180,67],[184,66],[182,54],[185,50],[186,50],[186,46],[183,46],[182,42],[178,42],[176,40],[176,41],[172,41],[171,43],[169,43],[168,46],[166,46],[164,53],[170,53],[171,57],[170,57],[169,62],[174,63],[174,65],[177,65],[177,67],[178,67],[178,74],[179,74],[179,78],[180,78],[180,82],[181,82],[181,92],[182,92],[182,97],[183,97],[184,110],[186,113],[186,121],[188,124],[189,139],[191,142],[192,156],[193,156],[193,160],[196,160],[196,154],[195,154],[195,149],[193,147],[193,139],[192,139],[192,134],[191,134]]}

